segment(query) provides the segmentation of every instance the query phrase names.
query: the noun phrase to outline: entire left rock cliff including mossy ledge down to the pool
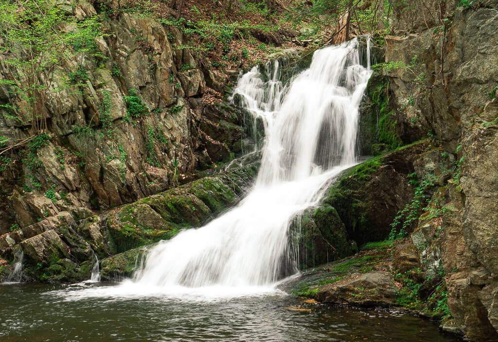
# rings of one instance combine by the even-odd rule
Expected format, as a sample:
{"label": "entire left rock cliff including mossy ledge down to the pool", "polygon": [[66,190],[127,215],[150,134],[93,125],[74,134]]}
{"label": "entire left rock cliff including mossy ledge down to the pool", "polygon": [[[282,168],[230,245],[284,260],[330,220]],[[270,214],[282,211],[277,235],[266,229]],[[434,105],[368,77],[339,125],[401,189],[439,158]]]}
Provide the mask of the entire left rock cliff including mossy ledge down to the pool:
{"label": "entire left rock cliff including mossy ledge down to the pool", "polygon": [[[86,27],[101,14],[95,4],[68,1],[60,31]],[[0,84],[0,278],[22,249],[25,280],[88,279],[95,256],[199,226],[234,205],[257,172],[257,154],[221,167],[257,143],[252,120],[243,125],[244,113],[212,88],[224,91],[235,71],[201,66],[179,48],[182,31],[158,19],[123,12],[98,25],[91,49],[73,44],[54,66],[46,86],[59,90],[40,103],[47,124],[36,135],[25,97]],[[26,82],[4,63],[12,53],[2,49],[0,77]],[[104,268],[104,277],[124,274]]]}

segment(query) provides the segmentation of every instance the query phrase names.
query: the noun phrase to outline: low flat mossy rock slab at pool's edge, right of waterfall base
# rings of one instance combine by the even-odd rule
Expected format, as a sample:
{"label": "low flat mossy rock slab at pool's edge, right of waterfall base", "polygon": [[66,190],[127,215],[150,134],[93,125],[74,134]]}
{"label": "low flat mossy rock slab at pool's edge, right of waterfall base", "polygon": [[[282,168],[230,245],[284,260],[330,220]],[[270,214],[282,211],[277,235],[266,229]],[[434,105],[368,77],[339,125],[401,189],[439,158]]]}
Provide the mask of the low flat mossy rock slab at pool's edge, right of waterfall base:
{"label": "low flat mossy rock slab at pool's edge, right of waterfall base", "polygon": [[413,243],[387,240],[367,244],[351,257],[305,270],[280,288],[306,303],[399,309],[432,321],[460,340],[463,334],[451,318],[444,283],[429,288],[423,281]]}

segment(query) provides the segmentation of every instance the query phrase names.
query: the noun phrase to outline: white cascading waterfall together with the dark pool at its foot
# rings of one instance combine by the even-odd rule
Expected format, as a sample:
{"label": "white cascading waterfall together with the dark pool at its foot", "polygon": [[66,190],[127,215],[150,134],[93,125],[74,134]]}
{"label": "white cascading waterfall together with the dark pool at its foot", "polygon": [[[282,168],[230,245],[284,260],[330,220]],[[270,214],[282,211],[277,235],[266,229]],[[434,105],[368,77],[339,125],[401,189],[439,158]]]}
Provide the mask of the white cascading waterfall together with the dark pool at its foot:
{"label": "white cascading waterfall together with the dark pool at its foot", "polygon": [[[369,64],[370,66],[370,64]],[[235,208],[153,247],[132,279],[0,287],[1,341],[454,341],[389,310],[333,308],[277,289],[298,271],[288,228],[356,163],[371,76],[358,42],[315,52],[288,84],[253,68],[234,94],[264,123],[255,184]],[[385,329],[390,327],[390,329]]]}

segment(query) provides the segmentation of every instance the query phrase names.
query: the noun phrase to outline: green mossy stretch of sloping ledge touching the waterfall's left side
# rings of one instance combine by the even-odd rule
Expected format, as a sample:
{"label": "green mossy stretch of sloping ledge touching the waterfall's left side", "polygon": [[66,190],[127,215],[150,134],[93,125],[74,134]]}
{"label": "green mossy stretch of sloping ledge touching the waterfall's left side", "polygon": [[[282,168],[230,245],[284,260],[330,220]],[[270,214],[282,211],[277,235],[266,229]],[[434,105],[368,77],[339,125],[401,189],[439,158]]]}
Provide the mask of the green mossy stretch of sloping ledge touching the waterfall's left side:
{"label": "green mossy stretch of sloping ledge touching the waterfall's left side", "polygon": [[114,209],[105,220],[109,251],[122,253],[201,226],[240,200],[258,166],[258,156],[234,161],[227,170]]}

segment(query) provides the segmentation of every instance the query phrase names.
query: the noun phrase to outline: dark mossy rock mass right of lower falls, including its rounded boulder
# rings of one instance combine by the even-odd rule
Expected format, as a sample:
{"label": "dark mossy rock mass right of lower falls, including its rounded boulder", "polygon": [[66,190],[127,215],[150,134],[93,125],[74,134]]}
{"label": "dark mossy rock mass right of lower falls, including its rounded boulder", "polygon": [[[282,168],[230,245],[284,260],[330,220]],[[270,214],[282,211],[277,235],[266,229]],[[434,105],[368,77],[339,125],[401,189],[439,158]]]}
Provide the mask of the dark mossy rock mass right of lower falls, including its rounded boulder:
{"label": "dark mossy rock mass right of lower falls, including its rounded boulder", "polygon": [[352,255],[358,246],[387,238],[396,213],[413,198],[408,177],[432,150],[429,140],[398,148],[344,171],[320,204],[295,219],[300,267]]}

